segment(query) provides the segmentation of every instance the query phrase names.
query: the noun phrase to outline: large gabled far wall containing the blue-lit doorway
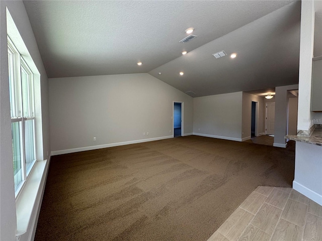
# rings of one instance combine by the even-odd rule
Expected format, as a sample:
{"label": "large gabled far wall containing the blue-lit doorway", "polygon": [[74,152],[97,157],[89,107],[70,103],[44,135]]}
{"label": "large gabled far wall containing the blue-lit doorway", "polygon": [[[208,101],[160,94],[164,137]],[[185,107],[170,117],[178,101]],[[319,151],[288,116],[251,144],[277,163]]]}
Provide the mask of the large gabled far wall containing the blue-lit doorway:
{"label": "large gabled far wall containing the blue-lit doorway", "polygon": [[51,149],[59,154],[169,138],[173,101],[184,102],[187,135],[192,99],[147,73],[49,79]]}

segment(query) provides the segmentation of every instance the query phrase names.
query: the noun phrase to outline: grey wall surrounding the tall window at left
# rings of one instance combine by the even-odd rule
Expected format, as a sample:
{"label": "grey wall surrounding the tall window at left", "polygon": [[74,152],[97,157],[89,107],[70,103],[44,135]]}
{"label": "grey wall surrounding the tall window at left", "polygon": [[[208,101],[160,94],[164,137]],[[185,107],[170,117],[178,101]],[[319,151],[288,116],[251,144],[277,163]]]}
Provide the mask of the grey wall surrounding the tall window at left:
{"label": "grey wall surrounding the tall window at left", "polygon": [[[8,51],[7,51],[7,21],[6,7],[11,13],[19,33],[30,53],[37,69],[41,74],[41,110],[42,110],[42,142],[43,150],[41,156],[46,159],[47,152],[50,152],[49,144],[49,111],[48,111],[48,79],[44,69],[38,46],[22,1],[0,1],[0,209],[1,209],[1,233],[0,240],[16,240],[16,203],[13,177],[13,156],[11,137],[11,117],[9,100],[8,81]],[[37,152],[38,154],[39,152]],[[33,215],[36,215],[34,210]],[[32,222],[28,226],[27,232],[21,237],[26,240],[31,234]]]}

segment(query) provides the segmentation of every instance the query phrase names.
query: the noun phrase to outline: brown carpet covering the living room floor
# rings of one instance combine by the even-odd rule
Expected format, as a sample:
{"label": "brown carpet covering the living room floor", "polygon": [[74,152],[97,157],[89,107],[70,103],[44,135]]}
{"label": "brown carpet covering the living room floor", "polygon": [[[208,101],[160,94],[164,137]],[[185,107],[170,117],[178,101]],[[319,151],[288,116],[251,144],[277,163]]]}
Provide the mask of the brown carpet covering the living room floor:
{"label": "brown carpet covering the living room floor", "polygon": [[291,187],[294,147],[189,136],[53,156],[35,240],[207,240],[257,186]]}

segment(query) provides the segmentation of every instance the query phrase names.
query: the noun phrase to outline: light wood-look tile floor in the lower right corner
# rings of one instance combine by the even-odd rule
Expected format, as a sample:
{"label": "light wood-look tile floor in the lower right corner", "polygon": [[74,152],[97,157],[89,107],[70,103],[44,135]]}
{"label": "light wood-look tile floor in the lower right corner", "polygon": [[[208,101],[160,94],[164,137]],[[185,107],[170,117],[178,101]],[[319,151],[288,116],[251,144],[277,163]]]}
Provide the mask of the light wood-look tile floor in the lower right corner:
{"label": "light wood-look tile floor in the lower right corner", "polygon": [[292,188],[259,186],[208,241],[322,240],[322,206]]}

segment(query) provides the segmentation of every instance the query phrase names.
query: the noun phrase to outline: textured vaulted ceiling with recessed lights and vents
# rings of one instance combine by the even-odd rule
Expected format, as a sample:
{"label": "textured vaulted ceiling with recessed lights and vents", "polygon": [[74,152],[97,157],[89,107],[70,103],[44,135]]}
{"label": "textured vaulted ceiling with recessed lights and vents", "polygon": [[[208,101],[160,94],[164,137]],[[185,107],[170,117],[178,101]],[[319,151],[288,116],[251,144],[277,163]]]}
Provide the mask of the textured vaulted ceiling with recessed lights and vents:
{"label": "textured vaulted ceiling with recessed lights and vents", "polygon": [[[300,2],[24,4],[50,78],[146,72],[194,96],[298,82]],[[198,37],[179,43],[190,27]]]}

